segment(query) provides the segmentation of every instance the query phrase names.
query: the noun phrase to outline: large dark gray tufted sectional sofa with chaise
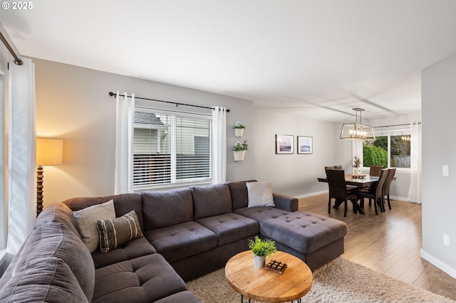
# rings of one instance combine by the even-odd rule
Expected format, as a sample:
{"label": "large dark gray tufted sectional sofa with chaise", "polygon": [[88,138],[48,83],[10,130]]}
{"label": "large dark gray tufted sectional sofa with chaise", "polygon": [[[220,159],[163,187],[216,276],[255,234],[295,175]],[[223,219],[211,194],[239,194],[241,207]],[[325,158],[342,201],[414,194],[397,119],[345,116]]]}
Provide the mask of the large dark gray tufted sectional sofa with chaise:
{"label": "large dark gray tufted sectional sofa with chaise", "polygon": [[[255,235],[312,270],[343,253],[345,223],[273,196],[274,207],[249,208],[246,181],[239,181],[55,203],[1,277],[0,302],[199,302],[185,281],[224,267]],[[116,217],[135,211],[143,236],[90,253],[73,211],[111,199]]]}

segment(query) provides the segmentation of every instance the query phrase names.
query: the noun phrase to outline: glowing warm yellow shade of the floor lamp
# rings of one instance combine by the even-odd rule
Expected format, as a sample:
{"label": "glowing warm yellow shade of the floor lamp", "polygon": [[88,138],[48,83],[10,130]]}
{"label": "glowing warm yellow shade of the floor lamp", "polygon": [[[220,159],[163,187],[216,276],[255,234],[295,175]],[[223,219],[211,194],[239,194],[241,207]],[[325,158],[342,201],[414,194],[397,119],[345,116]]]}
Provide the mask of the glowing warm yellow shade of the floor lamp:
{"label": "glowing warm yellow shade of the floor lamp", "polygon": [[63,140],[62,139],[36,139],[36,165],[62,164]]}

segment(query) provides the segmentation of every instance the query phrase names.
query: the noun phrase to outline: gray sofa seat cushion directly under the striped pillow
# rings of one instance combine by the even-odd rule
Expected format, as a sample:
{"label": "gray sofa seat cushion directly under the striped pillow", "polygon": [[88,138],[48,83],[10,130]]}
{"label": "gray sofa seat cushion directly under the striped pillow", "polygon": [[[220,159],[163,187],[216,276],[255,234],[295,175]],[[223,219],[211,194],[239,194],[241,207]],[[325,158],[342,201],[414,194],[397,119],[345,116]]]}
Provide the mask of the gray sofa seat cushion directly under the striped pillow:
{"label": "gray sofa seat cushion directly under the striped pillow", "polygon": [[142,257],[143,255],[151,255],[157,251],[150,245],[145,237],[131,240],[125,245],[122,245],[115,250],[101,253],[100,250],[92,252],[93,263],[95,268],[108,266],[117,262],[134,259],[135,257]]}

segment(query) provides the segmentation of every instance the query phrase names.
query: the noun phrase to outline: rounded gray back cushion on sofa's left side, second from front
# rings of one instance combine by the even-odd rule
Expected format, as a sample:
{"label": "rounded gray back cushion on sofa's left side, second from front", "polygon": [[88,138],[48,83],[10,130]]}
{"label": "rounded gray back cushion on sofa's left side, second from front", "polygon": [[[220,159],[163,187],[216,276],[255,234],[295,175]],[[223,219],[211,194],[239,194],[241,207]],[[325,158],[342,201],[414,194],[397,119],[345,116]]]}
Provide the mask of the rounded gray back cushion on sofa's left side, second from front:
{"label": "rounded gray back cushion on sofa's left side, second from front", "polygon": [[[81,238],[63,223],[43,223],[32,231],[20,253],[14,257],[15,260],[11,263],[14,263],[11,277],[23,275],[27,270],[31,270],[32,265],[36,265],[32,262],[33,260],[45,257],[62,260],[71,270],[76,282],[90,302],[93,287],[95,287],[95,267],[92,257]],[[49,268],[56,269],[60,265],[51,262],[50,266]],[[39,275],[37,279],[39,279]]]}

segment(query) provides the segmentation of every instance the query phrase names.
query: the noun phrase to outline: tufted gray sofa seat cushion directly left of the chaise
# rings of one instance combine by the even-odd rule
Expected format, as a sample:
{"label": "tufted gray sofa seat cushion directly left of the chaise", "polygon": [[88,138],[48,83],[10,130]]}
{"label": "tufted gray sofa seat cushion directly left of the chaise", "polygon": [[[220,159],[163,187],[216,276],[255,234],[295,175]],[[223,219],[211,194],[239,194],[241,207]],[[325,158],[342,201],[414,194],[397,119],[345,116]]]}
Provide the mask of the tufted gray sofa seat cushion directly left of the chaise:
{"label": "tufted gray sofa seat cushion directly left of the chaise", "polygon": [[218,238],[218,245],[248,238],[259,233],[259,223],[256,220],[239,215],[224,213],[196,220],[197,223],[212,230]]}

